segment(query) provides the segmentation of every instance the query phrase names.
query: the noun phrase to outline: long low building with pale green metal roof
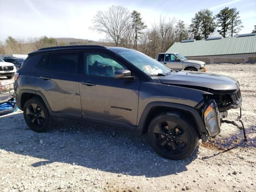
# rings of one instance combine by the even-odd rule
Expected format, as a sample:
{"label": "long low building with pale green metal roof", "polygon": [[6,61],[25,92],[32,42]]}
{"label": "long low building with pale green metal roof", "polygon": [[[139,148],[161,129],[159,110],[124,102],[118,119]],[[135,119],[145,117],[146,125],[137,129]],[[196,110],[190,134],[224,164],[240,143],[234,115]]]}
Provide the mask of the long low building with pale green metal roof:
{"label": "long low building with pale green metal roof", "polygon": [[[197,40],[192,42],[176,42],[166,53],[178,52],[191,59],[210,58],[210,62],[219,58],[234,58],[229,60],[248,61],[256,59],[256,34],[221,38],[213,40]],[[217,59],[218,58],[218,59]],[[236,59],[235,59],[236,58]]]}

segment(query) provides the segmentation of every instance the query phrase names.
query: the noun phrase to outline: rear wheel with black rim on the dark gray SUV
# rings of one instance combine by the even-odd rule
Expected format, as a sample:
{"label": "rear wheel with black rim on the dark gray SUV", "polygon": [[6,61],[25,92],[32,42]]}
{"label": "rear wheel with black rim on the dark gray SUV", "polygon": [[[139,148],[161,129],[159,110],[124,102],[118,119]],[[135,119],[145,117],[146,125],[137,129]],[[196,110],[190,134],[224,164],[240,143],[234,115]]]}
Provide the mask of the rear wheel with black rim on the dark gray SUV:
{"label": "rear wheel with black rim on the dark gray SUV", "polygon": [[35,132],[46,132],[50,128],[51,116],[44,102],[39,98],[26,101],[23,116],[28,127]]}

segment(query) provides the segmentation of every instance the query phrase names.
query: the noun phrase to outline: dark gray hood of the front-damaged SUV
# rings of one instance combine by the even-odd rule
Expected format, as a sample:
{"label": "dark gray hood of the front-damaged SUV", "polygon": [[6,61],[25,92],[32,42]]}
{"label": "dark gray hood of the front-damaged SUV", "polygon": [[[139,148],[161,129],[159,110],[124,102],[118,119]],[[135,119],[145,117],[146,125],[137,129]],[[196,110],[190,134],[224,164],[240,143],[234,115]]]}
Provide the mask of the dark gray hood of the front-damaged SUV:
{"label": "dark gray hood of the front-damaged SUV", "polygon": [[[228,76],[193,71],[174,72],[159,78],[163,84],[198,86],[213,90],[236,90],[239,83]],[[193,87],[191,87],[193,88]]]}

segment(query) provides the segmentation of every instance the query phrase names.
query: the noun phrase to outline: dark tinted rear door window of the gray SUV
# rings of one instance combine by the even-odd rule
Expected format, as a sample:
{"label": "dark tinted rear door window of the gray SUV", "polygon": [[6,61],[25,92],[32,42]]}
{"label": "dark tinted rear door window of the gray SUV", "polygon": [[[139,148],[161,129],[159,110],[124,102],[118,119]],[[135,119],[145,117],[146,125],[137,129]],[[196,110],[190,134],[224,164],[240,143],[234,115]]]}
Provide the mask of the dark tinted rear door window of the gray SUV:
{"label": "dark tinted rear door window of the gray SUV", "polygon": [[76,73],[76,66],[78,63],[78,53],[53,53],[50,56],[48,70],[63,72],[63,73]]}

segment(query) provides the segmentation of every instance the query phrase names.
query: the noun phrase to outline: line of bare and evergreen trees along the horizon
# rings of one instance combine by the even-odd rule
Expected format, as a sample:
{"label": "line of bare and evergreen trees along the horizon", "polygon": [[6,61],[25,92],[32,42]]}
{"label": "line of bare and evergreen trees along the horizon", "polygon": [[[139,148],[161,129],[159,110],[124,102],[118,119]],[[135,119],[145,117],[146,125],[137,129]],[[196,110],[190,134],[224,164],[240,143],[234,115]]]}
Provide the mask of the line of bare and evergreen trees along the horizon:
{"label": "line of bare and evergreen trees along the horizon", "polygon": [[[108,10],[99,10],[93,17],[91,30],[104,33],[106,40],[100,42],[104,46],[122,46],[133,48],[148,56],[155,58],[156,54],[166,52],[174,42],[185,39],[206,39],[211,36],[232,37],[242,28],[239,11],[236,8],[220,10],[216,15],[209,9],[198,11],[191,19],[190,25],[182,20],[166,18],[160,15],[157,22],[146,26],[140,12],[130,12],[123,6],[111,6]],[[256,31],[256,26],[254,30]],[[27,54],[39,48],[56,46],[54,38],[42,36],[39,39],[30,38],[28,42],[17,41],[11,36],[6,39],[6,44],[0,46],[0,53]],[[60,45],[86,44],[84,42],[70,42]]]}

